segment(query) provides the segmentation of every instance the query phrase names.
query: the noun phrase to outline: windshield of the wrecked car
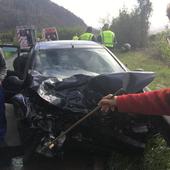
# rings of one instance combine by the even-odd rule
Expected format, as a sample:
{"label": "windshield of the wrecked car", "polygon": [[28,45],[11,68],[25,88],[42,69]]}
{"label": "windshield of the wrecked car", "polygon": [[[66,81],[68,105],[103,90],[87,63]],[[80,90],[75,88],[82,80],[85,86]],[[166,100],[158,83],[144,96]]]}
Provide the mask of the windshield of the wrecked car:
{"label": "windshield of the wrecked car", "polygon": [[48,74],[54,70],[74,74],[91,72],[108,74],[122,72],[123,68],[105,49],[48,49],[36,52],[34,69]]}

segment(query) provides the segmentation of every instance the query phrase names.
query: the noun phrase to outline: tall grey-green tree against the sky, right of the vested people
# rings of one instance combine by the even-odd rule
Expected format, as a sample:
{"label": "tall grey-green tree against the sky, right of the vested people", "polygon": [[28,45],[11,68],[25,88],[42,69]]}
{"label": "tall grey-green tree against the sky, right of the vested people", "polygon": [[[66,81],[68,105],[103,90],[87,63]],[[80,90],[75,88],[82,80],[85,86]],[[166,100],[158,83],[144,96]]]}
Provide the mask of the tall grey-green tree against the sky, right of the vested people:
{"label": "tall grey-green tree against the sky, right of the vested people", "polygon": [[138,0],[138,7],[130,13],[126,8],[120,10],[119,17],[114,18],[111,24],[120,46],[127,42],[133,48],[146,46],[151,11],[149,0]]}

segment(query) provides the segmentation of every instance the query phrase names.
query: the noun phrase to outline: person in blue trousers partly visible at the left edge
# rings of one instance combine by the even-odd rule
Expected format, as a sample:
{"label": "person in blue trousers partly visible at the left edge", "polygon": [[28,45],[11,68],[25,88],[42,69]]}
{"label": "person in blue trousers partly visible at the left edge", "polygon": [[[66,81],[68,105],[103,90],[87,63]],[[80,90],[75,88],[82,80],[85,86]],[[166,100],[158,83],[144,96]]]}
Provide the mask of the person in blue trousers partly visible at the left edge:
{"label": "person in blue trousers partly visible at the left edge", "polygon": [[0,145],[4,142],[6,134],[6,117],[5,117],[5,104],[4,104],[4,91],[2,88],[2,81],[6,76],[6,63],[2,50],[0,49]]}

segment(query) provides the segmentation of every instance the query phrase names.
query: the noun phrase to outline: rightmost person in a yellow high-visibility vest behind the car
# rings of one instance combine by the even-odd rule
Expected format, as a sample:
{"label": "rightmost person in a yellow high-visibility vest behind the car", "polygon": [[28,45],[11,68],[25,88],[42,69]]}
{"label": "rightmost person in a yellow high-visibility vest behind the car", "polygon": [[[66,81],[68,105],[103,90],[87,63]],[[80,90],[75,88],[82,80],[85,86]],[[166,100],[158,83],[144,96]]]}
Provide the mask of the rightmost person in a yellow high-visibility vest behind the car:
{"label": "rightmost person in a yellow high-visibility vest behind the car", "polygon": [[98,36],[97,40],[111,51],[114,49],[116,36],[114,32],[109,30],[109,24],[104,24],[102,32]]}

